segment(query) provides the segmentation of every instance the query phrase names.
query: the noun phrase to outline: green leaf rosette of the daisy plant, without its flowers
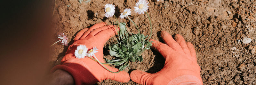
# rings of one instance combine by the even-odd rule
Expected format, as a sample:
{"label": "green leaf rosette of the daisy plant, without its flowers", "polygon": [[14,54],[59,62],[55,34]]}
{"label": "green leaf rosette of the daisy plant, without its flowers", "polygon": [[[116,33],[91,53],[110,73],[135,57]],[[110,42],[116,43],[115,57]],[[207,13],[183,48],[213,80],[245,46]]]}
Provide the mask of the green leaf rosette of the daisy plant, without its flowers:
{"label": "green leaf rosette of the daisy plant, without its flowers", "polygon": [[146,49],[150,49],[149,46],[152,46],[152,44],[146,40],[148,35],[145,36],[140,32],[137,34],[127,32],[125,23],[120,23],[118,25],[120,32],[118,33],[118,38],[116,40],[117,43],[108,46],[109,54],[111,56],[115,56],[116,58],[112,60],[105,60],[107,63],[120,66],[119,70],[122,71],[126,67],[130,68],[129,61],[141,62],[143,60],[141,53],[143,53]]}

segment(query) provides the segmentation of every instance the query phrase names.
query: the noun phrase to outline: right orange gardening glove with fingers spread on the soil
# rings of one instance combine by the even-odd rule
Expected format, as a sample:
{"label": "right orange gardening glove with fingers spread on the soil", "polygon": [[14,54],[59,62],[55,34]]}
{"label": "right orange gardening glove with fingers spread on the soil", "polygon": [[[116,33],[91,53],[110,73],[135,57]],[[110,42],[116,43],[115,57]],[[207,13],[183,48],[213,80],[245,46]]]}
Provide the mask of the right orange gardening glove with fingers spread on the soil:
{"label": "right orange gardening glove with fingers spread on the soil", "polygon": [[156,40],[150,41],[153,41],[153,49],[165,58],[163,69],[155,74],[134,70],[130,74],[132,81],[143,85],[202,85],[194,46],[190,42],[186,43],[179,34],[175,36],[176,41],[165,31],[161,32],[161,37],[167,45]]}

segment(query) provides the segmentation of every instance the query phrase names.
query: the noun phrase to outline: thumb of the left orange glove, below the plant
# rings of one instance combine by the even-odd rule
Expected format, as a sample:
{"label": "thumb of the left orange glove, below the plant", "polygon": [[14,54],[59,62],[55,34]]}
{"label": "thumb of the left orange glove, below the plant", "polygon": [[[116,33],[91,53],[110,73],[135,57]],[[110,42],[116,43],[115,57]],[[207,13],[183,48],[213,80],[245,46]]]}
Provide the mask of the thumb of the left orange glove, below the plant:
{"label": "thumb of the left orange glove, below the plant", "polygon": [[[110,66],[107,66],[107,68],[110,71],[113,71],[113,72],[118,71],[117,68],[113,68],[113,67],[110,67]],[[121,71],[119,73],[111,73],[111,72],[107,71],[106,72],[106,77],[107,77],[106,79],[115,80],[115,81],[119,81],[119,82],[128,82],[128,81],[130,81],[130,75],[125,71]]]}

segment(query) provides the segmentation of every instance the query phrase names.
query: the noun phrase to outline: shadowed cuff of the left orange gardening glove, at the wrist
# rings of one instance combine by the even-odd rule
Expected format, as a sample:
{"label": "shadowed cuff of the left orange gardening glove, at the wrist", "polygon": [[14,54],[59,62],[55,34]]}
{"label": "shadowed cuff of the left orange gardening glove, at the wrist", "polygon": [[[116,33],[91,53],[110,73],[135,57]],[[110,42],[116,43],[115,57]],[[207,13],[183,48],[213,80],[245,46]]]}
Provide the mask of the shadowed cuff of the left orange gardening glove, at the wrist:
{"label": "shadowed cuff of the left orange gardening glove, at the wrist", "polygon": [[54,66],[51,73],[57,69],[65,70],[72,75],[76,85],[91,85],[100,81],[95,78],[95,76],[91,73],[91,69],[84,62],[76,58],[69,58],[61,63],[61,65]]}

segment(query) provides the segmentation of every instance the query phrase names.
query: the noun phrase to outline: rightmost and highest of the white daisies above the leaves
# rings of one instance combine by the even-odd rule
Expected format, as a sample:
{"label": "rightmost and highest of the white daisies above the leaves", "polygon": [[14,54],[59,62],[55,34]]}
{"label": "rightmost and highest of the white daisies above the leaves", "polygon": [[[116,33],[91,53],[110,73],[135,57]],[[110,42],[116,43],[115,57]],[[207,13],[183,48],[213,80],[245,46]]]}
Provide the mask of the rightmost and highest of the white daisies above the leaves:
{"label": "rightmost and highest of the white daisies above the leaves", "polygon": [[134,11],[138,14],[144,14],[144,12],[148,11],[148,1],[146,0],[139,0],[134,7]]}

